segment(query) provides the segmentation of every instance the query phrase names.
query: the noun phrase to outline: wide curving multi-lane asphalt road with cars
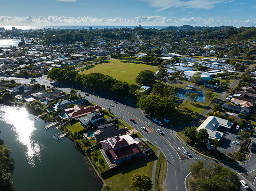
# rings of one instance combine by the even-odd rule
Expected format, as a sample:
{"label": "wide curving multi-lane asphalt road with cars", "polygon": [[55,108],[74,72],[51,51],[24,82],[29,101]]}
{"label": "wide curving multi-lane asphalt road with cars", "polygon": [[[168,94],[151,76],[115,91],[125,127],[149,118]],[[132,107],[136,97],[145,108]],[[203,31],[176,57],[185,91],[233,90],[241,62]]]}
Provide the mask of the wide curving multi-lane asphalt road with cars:
{"label": "wide curving multi-lane asphalt road with cars", "polygon": [[[7,78],[0,77],[0,79],[7,79]],[[23,78],[10,77],[8,79],[10,80],[15,79],[15,81],[18,81],[21,83],[27,83],[27,84],[29,84],[30,82],[30,79],[23,79]],[[44,84],[45,86],[50,85],[50,87],[52,87],[54,85],[55,87],[65,92],[70,92],[70,88],[81,89],[77,86],[72,86],[70,84],[60,84],[54,81],[46,80],[46,76],[37,78],[37,81],[41,84]],[[83,92],[80,92],[81,96],[85,96],[84,92],[91,94],[91,90],[86,89],[86,90],[83,90]],[[197,160],[213,162],[212,160],[206,159],[196,154],[195,152],[191,152],[185,145],[183,145],[182,142],[175,136],[176,128],[168,129],[163,126],[159,126],[158,124],[154,123],[150,117],[145,116],[144,113],[135,105],[127,102],[126,103],[121,102],[117,98],[111,95],[107,95],[103,92],[94,92],[93,95],[86,96],[86,98],[89,101],[92,101],[93,103],[96,103],[105,109],[111,108],[111,112],[113,114],[115,114],[120,118],[122,117],[122,119],[126,123],[131,125],[133,128],[135,128],[139,132],[142,132],[141,126],[145,126],[145,125],[150,126],[153,130],[155,130],[151,133],[143,133],[143,136],[147,138],[152,144],[161,148],[162,154],[164,154],[166,157],[166,160],[167,160],[167,173],[166,173],[166,181],[165,181],[166,190],[168,191],[169,190],[170,191],[186,190],[184,186],[184,180],[187,174],[190,173],[189,166],[193,163],[196,163]],[[118,104],[114,103],[114,101],[118,101]],[[110,103],[112,103],[114,107],[111,107],[109,105]],[[135,119],[135,123],[131,122],[129,120],[130,118]],[[156,129],[158,128],[164,131],[163,136],[156,132]],[[172,145],[169,144],[166,140]],[[184,151],[189,151],[192,157],[181,161],[174,147],[182,153]],[[221,165],[230,168],[232,171],[236,173],[245,173],[245,172],[250,172],[256,169],[255,159],[256,159],[256,155],[252,153],[250,160],[241,166],[238,166],[238,165],[227,166],[222,163]],[[238,176],[241,180],[243,179],[242,176],[240,175]],[[252,190],[256,190],[256,188],[250,185],[249,182],[247,183],[250,186],[250,188],[252,188]],[[244,188],[242,188],[242,190],[243,189]]]}

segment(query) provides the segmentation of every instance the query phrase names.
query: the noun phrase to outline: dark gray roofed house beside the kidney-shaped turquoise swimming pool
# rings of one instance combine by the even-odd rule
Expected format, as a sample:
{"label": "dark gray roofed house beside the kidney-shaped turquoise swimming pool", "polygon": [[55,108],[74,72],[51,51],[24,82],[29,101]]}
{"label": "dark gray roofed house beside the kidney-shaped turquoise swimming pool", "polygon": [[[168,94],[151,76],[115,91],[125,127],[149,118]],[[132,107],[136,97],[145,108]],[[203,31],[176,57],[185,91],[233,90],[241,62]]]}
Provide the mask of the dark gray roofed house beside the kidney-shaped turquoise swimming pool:
{"label": "dark gray roofed house beside the kidney-shaped turquoise swimming pool", "polygon": [[115,123],[100,125],[97,126],[97,128],[100,130],[98,133],[94,134],[94,138],[97,143],[107,138],[115,137],[120,134],[126,133],[125,128],[117,129]]}

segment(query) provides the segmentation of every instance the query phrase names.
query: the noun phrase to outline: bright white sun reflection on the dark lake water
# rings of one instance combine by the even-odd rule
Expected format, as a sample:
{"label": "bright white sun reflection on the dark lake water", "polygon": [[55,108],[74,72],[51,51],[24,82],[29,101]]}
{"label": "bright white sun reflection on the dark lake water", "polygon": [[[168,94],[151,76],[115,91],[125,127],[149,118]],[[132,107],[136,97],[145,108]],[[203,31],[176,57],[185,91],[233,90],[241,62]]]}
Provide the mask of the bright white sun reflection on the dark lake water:
{"label": "bright white sun reflection on the dark lake water", "polygon": [[33,131],[36,130],[34,121],[28,118],[25,108],[17,110],[15,107],[0,107],[0,120],[12,125],[12,130],[17,133],[16,140],[27,147],[27,161],[35,166],[35,159],[41,160],[41,146],[32,139]]}

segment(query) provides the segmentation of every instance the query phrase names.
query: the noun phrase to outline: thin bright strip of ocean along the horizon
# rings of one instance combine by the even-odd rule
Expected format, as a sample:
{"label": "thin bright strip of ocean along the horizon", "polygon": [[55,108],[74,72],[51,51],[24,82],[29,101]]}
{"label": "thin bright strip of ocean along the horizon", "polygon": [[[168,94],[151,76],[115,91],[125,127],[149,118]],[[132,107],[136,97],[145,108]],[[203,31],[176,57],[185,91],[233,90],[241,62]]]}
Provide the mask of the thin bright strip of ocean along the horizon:
{"label": "thin bright strip of ocean along the horizon", "polygon": [[[0,25],[0,27],[4,27],[5,30],[11,30],[12,26],[11,25]],[[92,29],[103,29],[103,28],[135,28],[137,26],[116,26],[116,25],[52,25],[52,26],[37,26],[37,25],[17,25],[14,26],[17,29],[22,29],[22,30],[30,30],[30,29],[89,29],[89,27],[92,27]],[[143,28],[150,29],[150,28],[156,28],[156,29],[162,29],[167,26],[142,26]]]}

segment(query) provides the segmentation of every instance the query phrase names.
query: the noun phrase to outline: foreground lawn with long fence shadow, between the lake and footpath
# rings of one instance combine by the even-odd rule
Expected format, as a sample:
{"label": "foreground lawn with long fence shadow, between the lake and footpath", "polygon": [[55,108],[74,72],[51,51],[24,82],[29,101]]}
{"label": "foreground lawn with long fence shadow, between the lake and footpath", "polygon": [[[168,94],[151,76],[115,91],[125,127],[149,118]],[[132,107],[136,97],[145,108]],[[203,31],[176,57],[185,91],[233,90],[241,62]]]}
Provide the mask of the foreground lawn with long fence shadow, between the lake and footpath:
{"label": "foreground lawn with long fence shadow, between the lake and footpath", "polygon": [[143,173],[151,178],[154,160],[157,160],[155,155],[120,166],[103,175],[102,179],[105,184],[111,187],[112,191],[135,191],[135,188],[130,188],[132,175],[134,173]]}

